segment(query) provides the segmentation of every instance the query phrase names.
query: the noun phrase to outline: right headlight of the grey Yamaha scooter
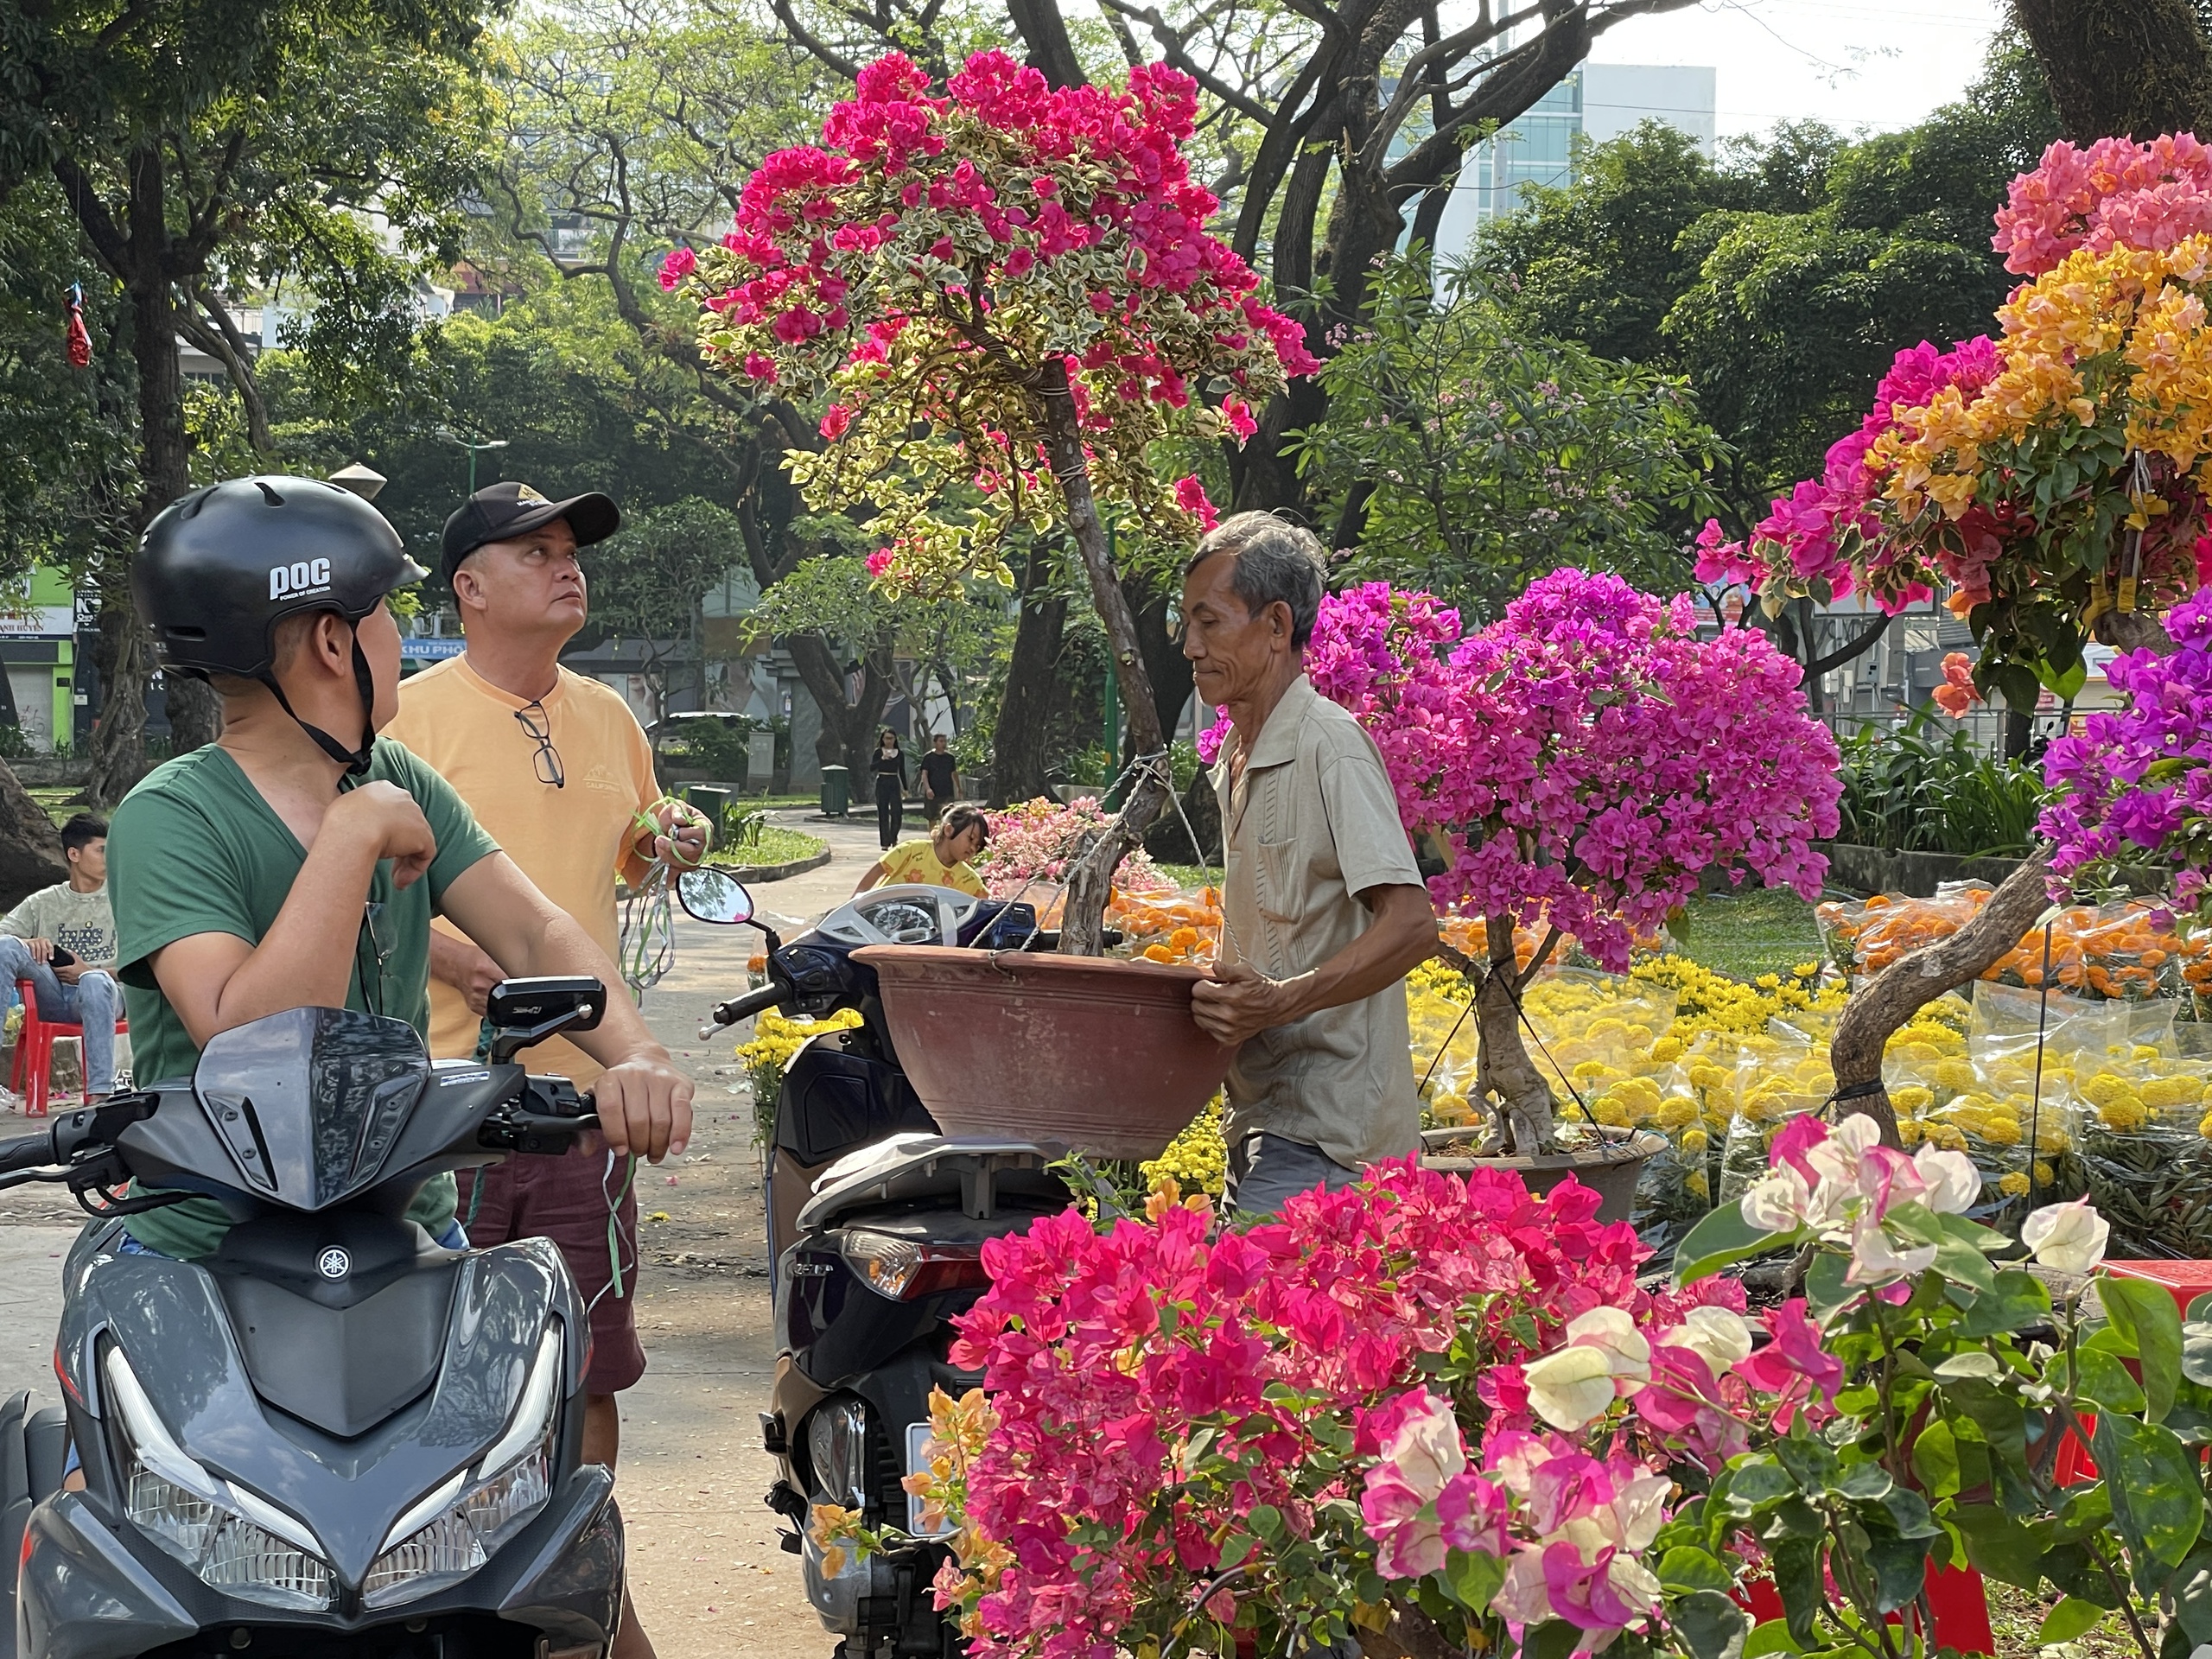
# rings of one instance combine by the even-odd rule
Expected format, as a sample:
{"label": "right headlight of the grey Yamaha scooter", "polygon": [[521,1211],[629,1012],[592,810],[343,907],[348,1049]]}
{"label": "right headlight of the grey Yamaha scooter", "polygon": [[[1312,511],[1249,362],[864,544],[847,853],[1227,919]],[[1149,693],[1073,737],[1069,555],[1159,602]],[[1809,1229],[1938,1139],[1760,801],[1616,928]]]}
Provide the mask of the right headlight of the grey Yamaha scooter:
{"label": "right headlight of the grey Yamaha scooter", "polygon": [[546,1325],[507,1433],[409,1509],[363,1579],[361,1601],[389,1608],[465,1579],[553,1495],[553,1427],[560,1405],[562,1327]]}

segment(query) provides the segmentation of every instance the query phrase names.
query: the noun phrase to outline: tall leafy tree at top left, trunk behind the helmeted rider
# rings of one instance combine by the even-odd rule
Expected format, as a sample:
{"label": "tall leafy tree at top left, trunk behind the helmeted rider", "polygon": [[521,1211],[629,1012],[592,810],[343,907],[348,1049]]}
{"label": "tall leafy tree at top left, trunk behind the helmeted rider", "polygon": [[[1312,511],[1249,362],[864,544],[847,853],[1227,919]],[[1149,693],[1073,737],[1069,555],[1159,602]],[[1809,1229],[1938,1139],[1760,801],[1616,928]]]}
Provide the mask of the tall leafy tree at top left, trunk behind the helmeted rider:
{"label": "tall leafy tree at top left, trunk behind the helmeted rider", "polygon": [[[135,374],[135,526],[190,482],[177,338],[223,363],[250,440],[265,405],[223,294],[290,276],[312,327],[414,327],[405,268],[449,259],[480,155],[478,0],[38,0],[4,13],[0,199],[55,186],[122,301]],[[354,343],[358,343],[358,338]],[[102,564],[106,719],[93,796],[142,765],[150,670],[128,560]],[[204,688],[173,697],[179,743],[212,737]]]}

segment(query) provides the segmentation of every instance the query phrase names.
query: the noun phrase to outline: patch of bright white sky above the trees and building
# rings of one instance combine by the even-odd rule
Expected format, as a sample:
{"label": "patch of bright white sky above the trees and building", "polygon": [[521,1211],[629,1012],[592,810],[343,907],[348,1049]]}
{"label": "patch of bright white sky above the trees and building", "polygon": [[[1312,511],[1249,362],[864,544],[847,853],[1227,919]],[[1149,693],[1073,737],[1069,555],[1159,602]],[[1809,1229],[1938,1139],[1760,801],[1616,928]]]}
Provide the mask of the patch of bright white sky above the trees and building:
{"label": "patch of bright white sky above the trees and building", "polygon": [[1854,131],[1911,126],[1982,66],[2004,0],[1701,0],[1624,22],[1606,64],[1712,64],[1721,137],[1781,119]]}

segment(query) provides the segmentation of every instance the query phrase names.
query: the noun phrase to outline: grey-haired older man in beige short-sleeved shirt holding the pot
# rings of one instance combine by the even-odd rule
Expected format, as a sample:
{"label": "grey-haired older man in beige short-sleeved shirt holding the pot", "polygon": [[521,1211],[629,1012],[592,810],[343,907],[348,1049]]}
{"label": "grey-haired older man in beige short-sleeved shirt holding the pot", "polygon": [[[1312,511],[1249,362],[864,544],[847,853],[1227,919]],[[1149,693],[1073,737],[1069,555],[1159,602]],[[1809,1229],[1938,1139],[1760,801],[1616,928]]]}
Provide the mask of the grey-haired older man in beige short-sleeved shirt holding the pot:
{"label": "grey-haired older man in beige short-sleeved shirt holding the pot", "polygon": [[1374,739],[1305,677],[1321,586],[1321,542],[1272,513],[1212,529],[1183,573],[1183,655],[1234,726],[1221,960],[1192,1015],[1241,1044],[1225,1203],[1248,1214],[1420,1141],[1405,975],[1436,951],[1436,907]]}

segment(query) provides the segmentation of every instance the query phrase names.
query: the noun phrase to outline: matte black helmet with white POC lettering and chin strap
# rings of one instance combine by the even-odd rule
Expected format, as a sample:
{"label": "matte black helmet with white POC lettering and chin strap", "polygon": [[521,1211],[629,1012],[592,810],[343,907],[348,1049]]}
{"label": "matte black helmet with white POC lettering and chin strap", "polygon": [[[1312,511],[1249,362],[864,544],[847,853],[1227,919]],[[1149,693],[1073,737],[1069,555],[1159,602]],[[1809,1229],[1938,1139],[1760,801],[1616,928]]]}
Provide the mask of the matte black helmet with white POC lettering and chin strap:
{"label": "matte black helmet with white POC lettering and chin strap", "polygon": [[[387,593],[425,575],[361,495],[321,478],[232,478],[155,515],[139,538],[131,593],[170,672],[257,679],[292,714],[274,675],[276,624],[314,611],[361,622]],[[358,639],[354,679],[367,714],[374,684]],[[347,772],[367,770],[374,734],[354,750],[299,723]]]}

